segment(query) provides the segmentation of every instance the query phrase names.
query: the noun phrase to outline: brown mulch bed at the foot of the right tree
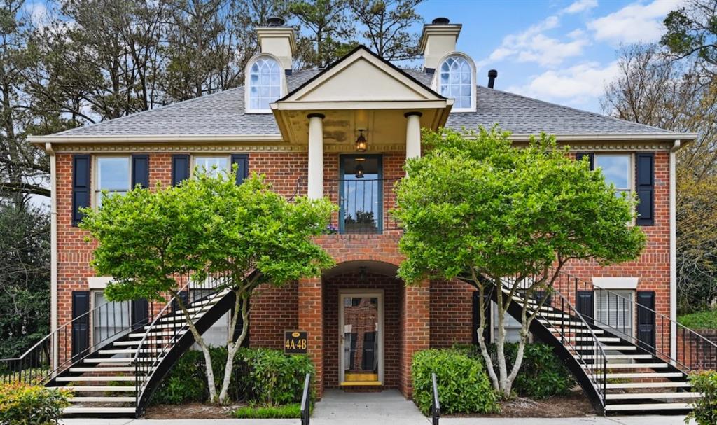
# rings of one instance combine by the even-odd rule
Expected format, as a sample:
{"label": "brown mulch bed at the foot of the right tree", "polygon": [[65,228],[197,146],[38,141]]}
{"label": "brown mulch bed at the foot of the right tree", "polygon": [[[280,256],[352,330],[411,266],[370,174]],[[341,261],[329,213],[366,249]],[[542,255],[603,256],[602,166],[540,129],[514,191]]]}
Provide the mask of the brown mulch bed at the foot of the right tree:
{"label": "brown mulch bed at the foot of the right tree", "polygon": [[516,397],[500,403],[500,414],[455,415],[480,418],[577,418],[592,416],[595,411],[582,392],[546,400]]}

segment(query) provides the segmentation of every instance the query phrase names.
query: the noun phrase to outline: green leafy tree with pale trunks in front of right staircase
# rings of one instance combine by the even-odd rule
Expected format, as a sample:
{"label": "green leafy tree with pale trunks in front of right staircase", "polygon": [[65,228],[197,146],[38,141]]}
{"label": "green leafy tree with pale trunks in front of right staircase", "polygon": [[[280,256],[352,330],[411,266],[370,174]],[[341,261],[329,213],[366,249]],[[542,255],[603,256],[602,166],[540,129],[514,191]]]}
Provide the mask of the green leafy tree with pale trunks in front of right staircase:
{"label": "green leafy tree with pale trunks in front of right staircase", "polygon": [[[536,314],[528,309],[528,298],[553,290],[566,262],[625,262],[645,246],[645,234],[630,225],[635,203],[616,196],[600,171],[569,158],[552,137],[542,135],[518,148],[508,135],[495,128],[424,132],[427,153],[407,161],[394,213],[404,226],[399,249],[406,259],[399,275],[409,285],[457,279],[480,295],[491,287],[505,291],[496,297],[497,374],[483,339],[483,296],[478,298],[480,351],[493,388],[505,398],[511,396]],[[526,302],[518,353],[508,370],[505,312],[518,290],[526,290]]]}

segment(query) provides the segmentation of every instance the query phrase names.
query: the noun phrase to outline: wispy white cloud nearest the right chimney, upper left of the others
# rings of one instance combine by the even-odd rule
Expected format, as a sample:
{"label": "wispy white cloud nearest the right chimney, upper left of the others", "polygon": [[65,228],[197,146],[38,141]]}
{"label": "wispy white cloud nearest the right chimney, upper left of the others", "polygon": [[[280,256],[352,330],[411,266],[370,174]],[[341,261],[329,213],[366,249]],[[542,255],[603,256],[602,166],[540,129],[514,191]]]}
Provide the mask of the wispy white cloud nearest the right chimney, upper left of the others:
{"label": "wispy white cloud nearest the right chimney, upper left of the others", "polygon": [[536,62],[550,67],[560,65],[568,57],[582,54],[583,48],[589,44],[584,32],[571,32],[569,42],[562,42],[543,34],[549,29],[558,27],[559,24],[558,16],[548,16],[523,32],[508,34],[503,38],[500,46],[490,54],[488,61],[497,62],[514,57],[518,62]]}

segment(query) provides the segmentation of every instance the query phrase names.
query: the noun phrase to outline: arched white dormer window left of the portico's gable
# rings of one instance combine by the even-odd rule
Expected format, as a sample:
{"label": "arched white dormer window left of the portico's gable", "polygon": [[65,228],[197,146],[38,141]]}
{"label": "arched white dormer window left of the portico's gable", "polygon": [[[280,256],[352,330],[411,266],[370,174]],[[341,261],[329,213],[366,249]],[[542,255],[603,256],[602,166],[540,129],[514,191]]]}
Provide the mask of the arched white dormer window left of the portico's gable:
{"label": "arched white dormer window left of the portico's gable", "polygon": [[275,57],[262,54],[249,62],[246,84],[247,112],[270,113],[269,104],[284,94],[284,70]]}

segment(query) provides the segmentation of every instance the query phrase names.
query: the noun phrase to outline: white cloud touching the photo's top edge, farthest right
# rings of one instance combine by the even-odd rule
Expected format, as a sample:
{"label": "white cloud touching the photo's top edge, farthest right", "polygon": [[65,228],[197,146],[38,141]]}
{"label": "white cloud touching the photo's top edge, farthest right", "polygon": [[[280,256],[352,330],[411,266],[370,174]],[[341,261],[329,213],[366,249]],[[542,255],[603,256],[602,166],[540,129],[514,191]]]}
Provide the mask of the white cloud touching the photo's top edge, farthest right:
{"label": "white cloud touching the photo's top edge, farthest right", "polygon": [[655,0],[649,4],[628,4],[612,14],[588,22],[587,27],[599,41],[614,44],[656,42],[664,32],[665,15],[680,3],[679,0]]}

